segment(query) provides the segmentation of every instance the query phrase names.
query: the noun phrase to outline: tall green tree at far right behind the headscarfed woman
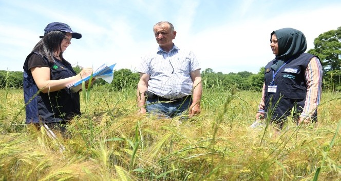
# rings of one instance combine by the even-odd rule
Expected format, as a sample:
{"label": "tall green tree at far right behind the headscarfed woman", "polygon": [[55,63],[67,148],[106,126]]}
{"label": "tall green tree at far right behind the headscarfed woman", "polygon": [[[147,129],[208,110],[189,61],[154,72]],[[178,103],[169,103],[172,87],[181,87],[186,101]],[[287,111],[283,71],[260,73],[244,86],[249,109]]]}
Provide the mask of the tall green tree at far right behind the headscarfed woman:
{"label": "tall green tree at far right behind the headscarfed woman", "polygon": [[325,73],[340,70],[341,67],[341,27],[320,34],[314,40],[314,49],[308,51],[317,55],[324,67]]}

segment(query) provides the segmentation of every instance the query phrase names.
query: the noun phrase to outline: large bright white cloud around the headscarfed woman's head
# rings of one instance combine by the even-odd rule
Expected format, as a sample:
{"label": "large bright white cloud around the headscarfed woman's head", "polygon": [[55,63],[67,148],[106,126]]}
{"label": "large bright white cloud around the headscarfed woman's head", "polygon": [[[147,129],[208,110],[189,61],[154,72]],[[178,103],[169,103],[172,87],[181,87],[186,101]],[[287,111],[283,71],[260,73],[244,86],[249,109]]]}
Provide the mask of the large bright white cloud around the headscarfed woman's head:
{"label": "large bright white cloud around the headscarfed woman's head", "polygon": [[[292,11],[265,19],[242,19],[239,23],[206,28],[185,43],[194,50],[202,69],[215,72],[249,71],[257,73],[261,66],[274,58],[270,49],[273,30],[291,27],[305,33],[308,49],[321,33],[337,28],[330,17],[341,17],[340,7],[324,7],[307,11]],[[328,21],[326,19],[329,19]],[[318,22],[318,25],[317,23]]]}

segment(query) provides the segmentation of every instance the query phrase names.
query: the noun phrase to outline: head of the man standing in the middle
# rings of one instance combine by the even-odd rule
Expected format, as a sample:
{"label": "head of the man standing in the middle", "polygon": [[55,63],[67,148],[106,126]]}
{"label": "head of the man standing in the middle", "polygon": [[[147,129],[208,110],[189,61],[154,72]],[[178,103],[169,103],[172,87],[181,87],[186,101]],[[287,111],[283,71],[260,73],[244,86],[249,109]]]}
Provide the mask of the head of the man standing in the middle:
{"label": "head of the man standing in the middle", "polygon": [[173,46],[173,39],[177,32],[172,32],[168,24],[156,25],[153,30],[156,42],[158,42],[160,47]]}

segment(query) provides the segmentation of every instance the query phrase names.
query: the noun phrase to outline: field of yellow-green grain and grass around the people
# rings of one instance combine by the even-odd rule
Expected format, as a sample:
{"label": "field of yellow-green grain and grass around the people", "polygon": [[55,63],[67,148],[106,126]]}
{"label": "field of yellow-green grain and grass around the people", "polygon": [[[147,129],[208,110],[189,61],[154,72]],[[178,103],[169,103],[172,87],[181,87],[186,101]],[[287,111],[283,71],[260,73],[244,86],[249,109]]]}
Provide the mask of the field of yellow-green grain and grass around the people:
{"label": "field of yellow-green grain and grass around the people", "polygon": [[341,179],[340,93],[323,93],[317,124],[288,121],[280,134],[249,128],[260,92],[204,89],[185,121],[138,116],[135,88],[88,94],[57,143],[24,124],[21,89],[1,89],[0,180]]}

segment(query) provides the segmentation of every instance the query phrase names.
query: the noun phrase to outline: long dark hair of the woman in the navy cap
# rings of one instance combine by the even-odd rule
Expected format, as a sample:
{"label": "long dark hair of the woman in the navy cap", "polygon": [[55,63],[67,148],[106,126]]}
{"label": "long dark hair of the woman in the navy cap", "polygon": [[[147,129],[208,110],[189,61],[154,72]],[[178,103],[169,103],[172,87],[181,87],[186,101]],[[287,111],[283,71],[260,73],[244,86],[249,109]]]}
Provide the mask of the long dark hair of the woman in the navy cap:
{"label": "long dark hair of the woman in the navy cap", "polygon": [[61,43],[66,35],[66,32],[51,31],[44,35],[44,37],[36,43],[32,52],[37,52],[41,56],[45,56],[50,62],[53,62],[53,53],[59,51],[59,57],[63,60],[63,52]]}

